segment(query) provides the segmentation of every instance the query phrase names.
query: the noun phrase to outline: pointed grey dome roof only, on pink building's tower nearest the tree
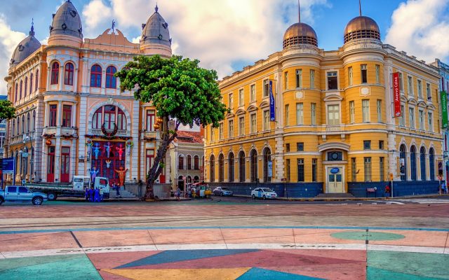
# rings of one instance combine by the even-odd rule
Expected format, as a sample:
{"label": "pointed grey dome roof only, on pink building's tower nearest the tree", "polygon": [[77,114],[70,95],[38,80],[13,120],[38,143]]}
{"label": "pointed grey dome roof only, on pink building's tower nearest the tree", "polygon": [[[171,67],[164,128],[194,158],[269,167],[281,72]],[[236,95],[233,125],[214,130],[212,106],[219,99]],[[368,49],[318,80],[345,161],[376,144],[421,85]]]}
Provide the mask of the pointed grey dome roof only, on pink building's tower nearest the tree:
{"label": "pointed grey dome roof only, on pink building's tower nearest the tree", "polygon": [[159,44],[171,48],[168,23],[162,18],[162,15],[158,13],[159,8],[157,6],[154,10],[154,14],[149,17],[147,23],[142,25],[140,45]]}

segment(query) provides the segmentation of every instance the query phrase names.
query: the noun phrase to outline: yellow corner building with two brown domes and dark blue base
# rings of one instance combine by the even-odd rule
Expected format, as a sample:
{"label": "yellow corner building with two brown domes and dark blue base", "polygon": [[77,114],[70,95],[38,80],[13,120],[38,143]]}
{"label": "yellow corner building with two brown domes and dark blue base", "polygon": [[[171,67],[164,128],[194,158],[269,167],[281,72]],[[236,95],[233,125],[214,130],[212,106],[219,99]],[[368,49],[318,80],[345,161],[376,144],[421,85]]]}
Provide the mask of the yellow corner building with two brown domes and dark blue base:
{"label": "yellow corner building with two brown domes and dark blue base", "polygon": [[206,130],[205,181],[242,194],[269,183],[284,196],[364,196],[374,186],[380,195],[392,174],[395,195],[435,193],[443,141],[438,77],[433,66],[383,44],[371,18],[351,20],[344,45],[330,51],[318,48],[314,29],[295,23],[283,50],[220,81],[230,113]]}

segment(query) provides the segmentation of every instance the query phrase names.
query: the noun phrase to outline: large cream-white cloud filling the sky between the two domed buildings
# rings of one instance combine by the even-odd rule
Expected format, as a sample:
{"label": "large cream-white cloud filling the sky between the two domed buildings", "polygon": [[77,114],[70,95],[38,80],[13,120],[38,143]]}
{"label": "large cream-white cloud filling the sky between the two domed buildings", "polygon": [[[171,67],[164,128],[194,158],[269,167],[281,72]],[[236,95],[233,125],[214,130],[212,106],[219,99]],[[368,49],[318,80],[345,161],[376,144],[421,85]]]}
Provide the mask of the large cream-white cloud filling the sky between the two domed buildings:
{"label": "large cream-white cloud filling the sky between the two domed buildings", "polygon": [[[112,16],[122,30],[141,30],[142,23],[154,13],[156,3],[155,0],[109,1]],[[100,0],[88,3],[83,15],[86,17],[85,11],[90,10],[87,7],[98,2],[102,3]],[[313,25],[314,6],[330,4],[327,0],[303,0],[303,22]],[[169,24],[173,53],[200,59],[201,66],[216,69],[223,77],[239,70],[234,69],[239,62],[252,63],[281,50],[284,31],[297,22],[297,0],[160,1],[159,13]],[[97,27],[101,25],[100,20],[91,20],[88,26],[95,27],[94,23]]]}

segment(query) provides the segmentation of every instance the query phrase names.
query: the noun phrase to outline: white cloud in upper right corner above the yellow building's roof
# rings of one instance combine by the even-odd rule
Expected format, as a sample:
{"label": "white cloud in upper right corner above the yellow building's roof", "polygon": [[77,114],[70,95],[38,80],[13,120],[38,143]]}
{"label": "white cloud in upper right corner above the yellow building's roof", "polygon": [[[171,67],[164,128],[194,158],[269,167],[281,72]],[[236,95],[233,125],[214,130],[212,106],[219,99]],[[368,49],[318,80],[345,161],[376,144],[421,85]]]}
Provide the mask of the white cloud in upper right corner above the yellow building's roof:
{"label": "white cloud in upper right corner above the yellow building's roof", "polygon": [[449,0],[408,0],[391,16],[385,43],[433,62],[449,58]]}

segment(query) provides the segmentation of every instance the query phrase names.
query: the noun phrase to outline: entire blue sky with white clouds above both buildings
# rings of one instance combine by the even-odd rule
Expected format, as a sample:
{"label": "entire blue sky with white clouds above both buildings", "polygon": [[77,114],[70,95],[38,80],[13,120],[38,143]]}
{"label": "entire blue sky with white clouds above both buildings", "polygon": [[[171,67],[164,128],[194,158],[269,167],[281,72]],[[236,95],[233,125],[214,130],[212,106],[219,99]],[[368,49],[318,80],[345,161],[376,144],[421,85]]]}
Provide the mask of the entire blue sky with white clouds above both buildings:
{"label": "entire blue sky with white clouds above both buildings", "polygon": [[[0,0],[0,77],[15,47],[28,35],[46,43],[52,14],[63,0]],[[156,0],[72,0],[84,38],[96,38],[116,22],[138,42]],[[449,59],[449,0],[362,0],[362,14],[380,27],[381,40],[426,62]],[[200,59],[220,78],[282,50],[286,29],[298,20],[297,0],[159,0],[176,55]],[[301,0],[301,20],[316,31],[319,48],[343,45],[347,22],[358,16],[357,0]],[[0,94],[6,83],[0,78]]]}

